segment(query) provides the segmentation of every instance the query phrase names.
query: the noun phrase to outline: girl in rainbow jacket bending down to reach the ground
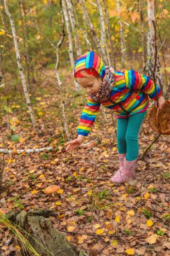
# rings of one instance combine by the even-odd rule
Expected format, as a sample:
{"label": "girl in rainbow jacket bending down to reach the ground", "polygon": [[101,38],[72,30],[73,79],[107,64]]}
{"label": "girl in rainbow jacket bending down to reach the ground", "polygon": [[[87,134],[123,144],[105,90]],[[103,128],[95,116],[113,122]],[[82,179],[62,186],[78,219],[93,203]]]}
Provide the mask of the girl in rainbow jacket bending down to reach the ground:
{"label": "girl in rainbow jacket bending down to reach the ground", "polygon": [[[155,100],[154,82],[134,70],[114,71],[105,67],[93,51],[81,55],[75,63],[75,78],[86,88],[87,104],[81,114],[78,137],[66,143],[66,151],[78,148],[91,131],[102,104],[113,109],[117,117],[117,142],[120,168],[110,179],[112,183],[124,183],[134,178],[138,158],[138,133],[148,108],[148,96]],[[157,86],[159,107],[165,102]]]}

